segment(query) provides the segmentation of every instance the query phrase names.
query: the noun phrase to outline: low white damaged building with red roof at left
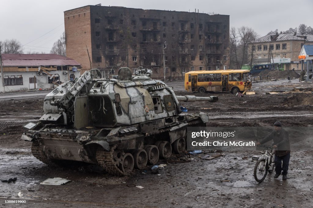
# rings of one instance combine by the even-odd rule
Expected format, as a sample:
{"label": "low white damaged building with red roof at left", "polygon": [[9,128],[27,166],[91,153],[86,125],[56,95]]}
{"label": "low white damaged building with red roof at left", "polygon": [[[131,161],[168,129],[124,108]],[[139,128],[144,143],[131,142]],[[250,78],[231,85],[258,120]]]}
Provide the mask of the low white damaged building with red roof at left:
{"label": "low white damaged building with red roof at left", "polygon": [[[80,76],[80,63],[56,54],[2,54],[1,92],[53,88]],[[4,90],[3,90],[3,87]]]}

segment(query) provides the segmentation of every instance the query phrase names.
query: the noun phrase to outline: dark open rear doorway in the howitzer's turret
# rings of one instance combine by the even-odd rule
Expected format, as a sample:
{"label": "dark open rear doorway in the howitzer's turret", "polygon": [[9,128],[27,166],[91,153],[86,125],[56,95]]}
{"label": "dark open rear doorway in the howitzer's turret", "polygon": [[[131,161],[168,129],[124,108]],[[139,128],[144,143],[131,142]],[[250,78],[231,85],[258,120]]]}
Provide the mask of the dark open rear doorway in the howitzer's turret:
{"label": "dark open rear doorway in the howitzer's turret", "polygon": [[112,103],[106,96],[89,96],[89,123],[94,126],[113,126]]}

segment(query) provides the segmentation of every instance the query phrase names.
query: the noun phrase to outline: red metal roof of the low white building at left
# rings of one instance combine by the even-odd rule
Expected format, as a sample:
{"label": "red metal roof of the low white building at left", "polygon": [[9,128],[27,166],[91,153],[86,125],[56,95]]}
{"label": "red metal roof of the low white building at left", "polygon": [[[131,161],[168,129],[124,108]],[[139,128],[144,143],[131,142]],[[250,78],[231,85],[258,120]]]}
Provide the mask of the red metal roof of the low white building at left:
{"label": "red metal roof of the low white building at left", "polygon": [[80,66],[74,59],[56,54],[2,54],[3,66]]}

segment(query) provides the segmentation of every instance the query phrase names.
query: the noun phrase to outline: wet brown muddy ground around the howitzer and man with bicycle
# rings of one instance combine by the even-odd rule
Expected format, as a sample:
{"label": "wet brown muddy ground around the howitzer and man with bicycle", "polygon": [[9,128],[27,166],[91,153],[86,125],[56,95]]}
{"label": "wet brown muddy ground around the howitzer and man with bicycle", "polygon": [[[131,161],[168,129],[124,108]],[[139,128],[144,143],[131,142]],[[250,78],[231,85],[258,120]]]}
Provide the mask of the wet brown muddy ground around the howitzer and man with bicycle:
{"label": "wet brown muddy ground around the howitzer and man with bicycle", "polygon": [[[171,82],[177,95],[216,95],[216,103],[181,103],[188,113],[205,112],[208,126],[271,126],[280,120],[285,126],[312,127],[312,92],[265,94],[312,87],[298,80],[254,83],[257,94],[236,97],[228,93],[187,93],[183,82]],[[0,178],[17,177],[14,183],[0,182],[0,207],[313,207],[310,149],[293,151],[288,179],[273,174],[258,183],[253,177],[252,155],[259,151],[227,151],[224,157],[168,163],[160,175],[135,170],[130,177],[90,172],[88,167],[50,168],[35,159],[31,143],[19,140],[23,125],[41,116],[44,97],[1,99]],[[248,157],[248,159],[242,159]],[[166,163],[166,161],[159,161]],[[142,174],[144,172],[144,174]],[[63,186],[40,185],[47,178],[71,180]],[[133,187],[143,186],[143,189]],[[18,198],[18,193],[23,194]],[[5,203],[26,200],[26,203]],[[281,205],[281,206],[279,206]]]}

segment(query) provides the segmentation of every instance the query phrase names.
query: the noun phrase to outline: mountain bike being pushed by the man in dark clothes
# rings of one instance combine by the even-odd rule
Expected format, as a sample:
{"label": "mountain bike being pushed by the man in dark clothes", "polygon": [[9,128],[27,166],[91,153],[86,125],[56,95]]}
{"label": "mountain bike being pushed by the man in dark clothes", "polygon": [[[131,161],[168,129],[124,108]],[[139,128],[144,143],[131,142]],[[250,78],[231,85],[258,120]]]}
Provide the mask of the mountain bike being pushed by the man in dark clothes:
{"label": "mountain bike being pushed by the man in dark clothes", "polygon": [[[269,147],[265,147],[263,145],[259,145],[261,147],[264,147],[265,153],[262,155],[261,158],[257,157],[257,162],[254,167],[254,178],[258,182],[264,181],[267,172],[272,173],[274,171],[275,163],[274,163],[274,157],[273,157],[273,146],[272,144],[271,151],[269,152],[267,149]],[[254,156],[255,157],[255,156]],[[255,160],[256,158],[253,158]]]}

